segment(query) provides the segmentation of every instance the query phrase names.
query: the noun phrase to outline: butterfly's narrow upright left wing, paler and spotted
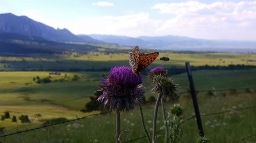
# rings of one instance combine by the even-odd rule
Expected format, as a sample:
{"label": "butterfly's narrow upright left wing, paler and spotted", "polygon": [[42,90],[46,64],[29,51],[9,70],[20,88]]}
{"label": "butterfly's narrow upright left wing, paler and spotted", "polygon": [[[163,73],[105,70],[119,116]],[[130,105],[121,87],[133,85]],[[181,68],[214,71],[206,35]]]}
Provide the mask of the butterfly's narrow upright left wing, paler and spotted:
{"label": "butterfly's narrow upright left wing, paler and spotted", "polygon": [[140,53],[140,50],[139,50],[138,46],[136,46],[133,50],[131,50],[129,52],[129,63],[130,63],[130,66],[131,66],[134,73],[135,73],[135,71],[138,70],[139,53]]}

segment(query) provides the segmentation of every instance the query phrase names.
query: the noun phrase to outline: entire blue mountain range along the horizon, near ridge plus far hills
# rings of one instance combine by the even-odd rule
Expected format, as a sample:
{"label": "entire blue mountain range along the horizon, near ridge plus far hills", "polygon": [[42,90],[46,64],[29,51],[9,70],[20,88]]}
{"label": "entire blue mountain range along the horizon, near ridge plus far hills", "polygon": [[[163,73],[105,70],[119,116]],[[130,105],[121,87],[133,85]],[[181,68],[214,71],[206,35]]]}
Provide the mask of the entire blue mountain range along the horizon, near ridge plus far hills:
{"label": "entire blue mountain range along the horizon, near ridge plus far hills", "polygon": [[172,35],[136,38],[96,34],[74,35],[66,28],[55,29],[27,16],[16,16],[11,13],[0,14],[0,41],[8,40],[113,43],[129,47],[139,45],[142,48],[162,50],[256,52],[256,42],[254,41],[205,40]]}

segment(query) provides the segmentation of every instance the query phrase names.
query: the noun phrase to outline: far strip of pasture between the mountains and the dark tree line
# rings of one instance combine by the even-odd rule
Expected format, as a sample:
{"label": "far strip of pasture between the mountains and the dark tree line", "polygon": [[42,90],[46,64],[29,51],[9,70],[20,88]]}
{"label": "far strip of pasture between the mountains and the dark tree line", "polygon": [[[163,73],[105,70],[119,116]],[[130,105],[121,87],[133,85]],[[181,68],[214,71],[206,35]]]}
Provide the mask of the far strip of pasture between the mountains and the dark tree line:
{"label": "far strip of pasture between the mountains and the dark tree line", "polygon": [[[162,56],[167,56],[170,61],[160,61]],[[256,66],[256,55],[245,53],[174,53],[160,52],[158,58],[149,67],[172,66],[184,67],[189,61],[191,66],[228,66],[228,65],[252,65]],[[113,66],[129,66],[127,53],[109,53],[103,51],[81,54],[77,52],[63,54],[31,54],[29,56],[1,56],[0,70],[2,71],[48,71],[70,69],[102,69]]]}

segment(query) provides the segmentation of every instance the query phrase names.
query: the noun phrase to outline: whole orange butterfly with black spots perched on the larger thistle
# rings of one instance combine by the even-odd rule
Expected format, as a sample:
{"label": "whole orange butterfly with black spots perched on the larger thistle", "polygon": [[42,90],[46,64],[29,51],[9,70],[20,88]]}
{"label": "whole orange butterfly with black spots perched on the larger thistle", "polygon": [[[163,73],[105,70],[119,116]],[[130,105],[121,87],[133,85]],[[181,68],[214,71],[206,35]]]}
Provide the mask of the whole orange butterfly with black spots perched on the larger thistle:
{"label": "whole orange butterfly with black spots perched on the larger thistle", "polygon": [[159,52],[140,53],[139,46],[136,46],[129,52],[130,66],[134,74],[139,74],[140,71],[150,65],[158,56]]}

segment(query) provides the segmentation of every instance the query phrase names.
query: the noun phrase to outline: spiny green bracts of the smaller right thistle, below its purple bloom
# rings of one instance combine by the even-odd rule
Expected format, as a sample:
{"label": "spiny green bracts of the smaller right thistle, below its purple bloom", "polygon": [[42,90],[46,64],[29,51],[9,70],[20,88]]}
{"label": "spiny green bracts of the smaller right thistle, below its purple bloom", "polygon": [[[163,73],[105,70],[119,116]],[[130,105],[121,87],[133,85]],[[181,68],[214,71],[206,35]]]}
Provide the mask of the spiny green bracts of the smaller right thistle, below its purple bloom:
{"label": "spiny green bracts of the smaller right thistle, below its purple bloom", "polygon": [[179,85],[172,78],[162,75],[153,75],[152,92],[162,93],[165,99],[177,100],[178,95],[175,93],[179,89]]}

